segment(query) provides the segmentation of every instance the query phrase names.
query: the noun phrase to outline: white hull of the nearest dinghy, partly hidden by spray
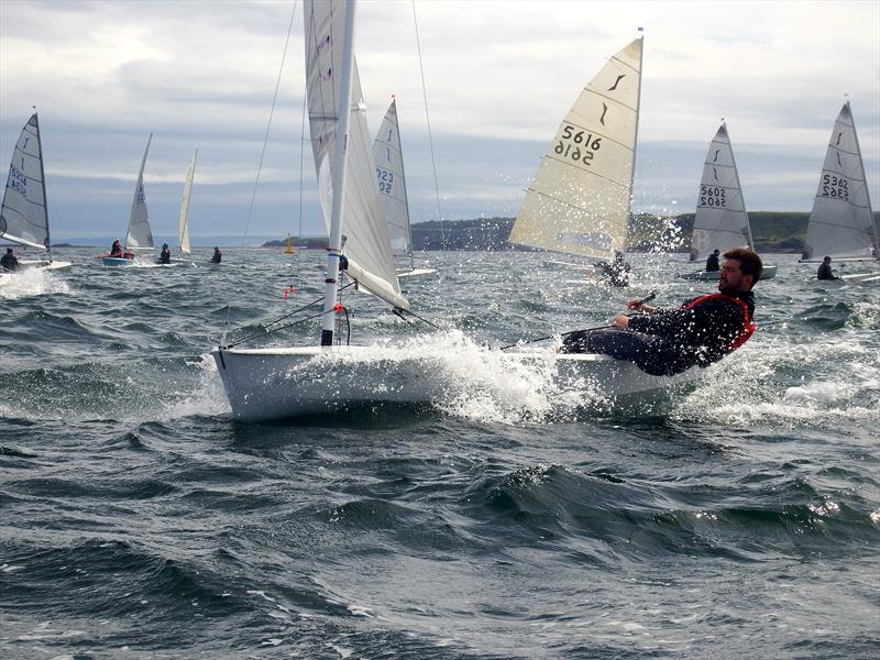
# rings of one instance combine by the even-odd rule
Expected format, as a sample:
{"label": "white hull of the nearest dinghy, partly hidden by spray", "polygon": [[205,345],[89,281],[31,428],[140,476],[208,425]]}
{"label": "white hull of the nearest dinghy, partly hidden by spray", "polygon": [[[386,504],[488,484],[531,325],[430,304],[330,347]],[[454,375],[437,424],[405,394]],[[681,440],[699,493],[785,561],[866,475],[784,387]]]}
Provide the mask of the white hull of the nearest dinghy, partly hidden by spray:
{"label": "white hull of the nearest dinghy, partly hidden by spray", "polygon": [[[344,410],[364,404],[437,404],[453,386],[438,358],[373,346],[215,350],[232,414],[264,421]],[[510,370],[534,367],[563,389],[614,399],[667,391],[700,375],[651,376],[635,364],[595,354],[544,350],[493,353]],[[502,369],[504,369],[502,366]]]}

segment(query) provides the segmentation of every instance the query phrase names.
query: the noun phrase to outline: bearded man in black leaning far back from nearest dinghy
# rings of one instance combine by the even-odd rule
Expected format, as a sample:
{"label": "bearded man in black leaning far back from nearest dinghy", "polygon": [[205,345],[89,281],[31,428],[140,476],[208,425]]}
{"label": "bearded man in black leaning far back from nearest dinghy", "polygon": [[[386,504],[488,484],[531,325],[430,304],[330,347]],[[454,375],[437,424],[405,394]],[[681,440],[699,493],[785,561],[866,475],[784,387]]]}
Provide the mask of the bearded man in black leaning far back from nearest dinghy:
{"label": "bearded man in black leaning far back from nearest dinghy", "polygon": [[735,248],[718,277],[717,294],[688,300],[679,309],[662,310],[640,300],[629,309],[645,314],[618,316],[614,327],[569,334],[565,353],[604,353],[629,360],[654,376],[671,376],[691,366],[707,366],[743,345],[755,332],[751,287],[761,277],[761,257],[751,250]]}

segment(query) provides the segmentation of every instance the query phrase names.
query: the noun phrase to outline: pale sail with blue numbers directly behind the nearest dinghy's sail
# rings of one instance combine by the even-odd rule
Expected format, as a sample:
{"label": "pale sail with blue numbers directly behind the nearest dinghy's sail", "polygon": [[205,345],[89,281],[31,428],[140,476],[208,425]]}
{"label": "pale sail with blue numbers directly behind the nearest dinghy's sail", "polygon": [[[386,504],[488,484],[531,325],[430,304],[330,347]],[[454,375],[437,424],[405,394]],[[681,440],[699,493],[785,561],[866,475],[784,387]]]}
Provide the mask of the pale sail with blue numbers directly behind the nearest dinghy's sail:
{"label": "pale sail with blue numbers directly behind the nearest dinghy's sail", "polygon": [[376,183],[380,197],[385,205],[385,219],[392,251],[395,254],[413,254],[409,234],[409,206],[406,197],[404,153],[400,147],[400,130],[397,125],[397,101],[392,100],[385,119],[373,143],[373,160],[376,163]]}

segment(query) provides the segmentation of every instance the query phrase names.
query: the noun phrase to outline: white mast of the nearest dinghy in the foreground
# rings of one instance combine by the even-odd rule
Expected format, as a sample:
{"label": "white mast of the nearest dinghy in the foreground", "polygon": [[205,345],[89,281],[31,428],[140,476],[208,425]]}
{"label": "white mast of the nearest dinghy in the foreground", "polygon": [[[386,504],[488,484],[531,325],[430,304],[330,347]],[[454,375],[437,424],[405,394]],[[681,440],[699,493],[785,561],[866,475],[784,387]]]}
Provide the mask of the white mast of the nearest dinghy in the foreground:
{"label": "white mast of the nearest dinghy in the foreground", "polygon": [[356,0],[346,3],[345,32],[342,43],[342,84],[337,103],[337,157],[333,168],[333,210],[330,217],[330,244],[327,252],[327,276],[324,278],[322,346],[333,345],[337,279],[339,278],[339,260],[342,256],[342,211],[345,205],[345,170],[351,123],[352,70],[354,68],[354,11],[356,7]]}

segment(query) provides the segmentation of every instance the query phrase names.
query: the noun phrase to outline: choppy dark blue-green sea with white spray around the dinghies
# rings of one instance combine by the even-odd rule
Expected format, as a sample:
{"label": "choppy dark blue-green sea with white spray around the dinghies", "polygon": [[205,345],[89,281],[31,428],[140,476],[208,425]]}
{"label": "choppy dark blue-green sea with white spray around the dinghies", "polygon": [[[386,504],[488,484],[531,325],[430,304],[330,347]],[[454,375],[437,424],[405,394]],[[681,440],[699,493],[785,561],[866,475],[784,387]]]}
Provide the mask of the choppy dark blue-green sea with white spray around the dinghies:
{"label": "choppy dark blue-green sea with white spray around the dinghies", "polygon": [[437,327],[348,288],[338,337],[430,355],[446,396],[244,424],[210,351],[317,343],[266,328],[316,311],[323,253],[56,252],[0,287],[0,658],[880,657],[878,283],[767,255],[751,340],[618,409],[499,349],[711,293],[683,255],[622,289],[418,253]]}

